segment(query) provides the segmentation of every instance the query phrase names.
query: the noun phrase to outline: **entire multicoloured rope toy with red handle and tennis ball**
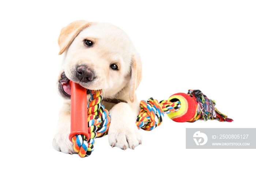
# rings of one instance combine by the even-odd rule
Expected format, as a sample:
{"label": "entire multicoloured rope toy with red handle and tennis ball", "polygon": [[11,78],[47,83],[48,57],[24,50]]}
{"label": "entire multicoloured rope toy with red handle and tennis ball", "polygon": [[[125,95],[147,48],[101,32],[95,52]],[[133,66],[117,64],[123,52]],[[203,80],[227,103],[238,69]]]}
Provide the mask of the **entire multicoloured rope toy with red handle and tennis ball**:
{"label": "entire multicoloured rope toy with red handle and tennis ball", "polygon": [[[87,105],[86,89],[70,81],[71,84],[71,133],[69,140],[80,157],[91,155],[94,138],[108,133],[109,112],[101,105],[102,90],[91,90]],[[75,97],[74,97],[75,96]],[[88,108],[88,109],[87,109]],[[188,94],[176,93],[158,103],[149,98],[140,101],[140,112],[136,120],[138,129],[151,131],[162,124],[164,113],[176,122],[194,122],[199,119],[231,122],[215,108],[215,101],[208,99],[200,90],[188,90]],[[86,121],[87,117],[87,121]],[[86,124],[87,123],[87,124]]]}

